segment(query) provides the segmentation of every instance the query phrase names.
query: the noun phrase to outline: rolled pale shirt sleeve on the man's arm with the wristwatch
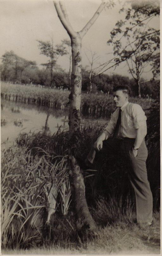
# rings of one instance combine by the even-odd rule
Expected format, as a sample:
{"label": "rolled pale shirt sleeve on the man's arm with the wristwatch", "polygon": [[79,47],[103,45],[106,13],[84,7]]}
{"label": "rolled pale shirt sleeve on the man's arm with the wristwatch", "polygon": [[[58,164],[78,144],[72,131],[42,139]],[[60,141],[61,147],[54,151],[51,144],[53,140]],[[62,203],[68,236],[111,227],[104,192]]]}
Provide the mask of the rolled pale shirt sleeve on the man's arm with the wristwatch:
{"label": "rolled pale shirt sleeve on the man's arm with the wristwatch", "polygon": [[146,119],[145,112],[138,104],[133,104],[131,109],[131,115],[133,117],[134,121],[134,127],[135,129],[138,129],[139,127],[143,127],[146,129]]}

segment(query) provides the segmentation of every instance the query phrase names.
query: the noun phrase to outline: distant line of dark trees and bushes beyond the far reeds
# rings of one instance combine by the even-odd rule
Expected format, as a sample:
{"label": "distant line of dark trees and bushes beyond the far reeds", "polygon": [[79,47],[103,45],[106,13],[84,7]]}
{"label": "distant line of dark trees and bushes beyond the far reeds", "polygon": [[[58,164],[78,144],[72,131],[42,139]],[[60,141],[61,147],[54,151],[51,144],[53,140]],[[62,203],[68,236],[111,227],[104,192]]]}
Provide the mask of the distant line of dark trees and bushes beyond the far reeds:
{"label": "distant line of dark trees and bushes beyond the far reeds", "polygon": [[[36,62],[25,60],[10,51],[3,55],[1,64],[1,81],[18,84],[35,84],[51,88],[69,89],[69,74],[62,68],[57,67],[53,73],[53,80],[50,86],[50,71],[46,68],[38,68]],[[138,95],[138,88],[133,79],[123,75],[101,74],[91,78],[92,92],[98,91],[111,94],[113,87],[125,84],[130,87],[132,96]],[[143,98],[159,97],[160,81],[147,81],[141,83],[141,96]],[[82,69],[82,91],[89,90],[89,72]]]}

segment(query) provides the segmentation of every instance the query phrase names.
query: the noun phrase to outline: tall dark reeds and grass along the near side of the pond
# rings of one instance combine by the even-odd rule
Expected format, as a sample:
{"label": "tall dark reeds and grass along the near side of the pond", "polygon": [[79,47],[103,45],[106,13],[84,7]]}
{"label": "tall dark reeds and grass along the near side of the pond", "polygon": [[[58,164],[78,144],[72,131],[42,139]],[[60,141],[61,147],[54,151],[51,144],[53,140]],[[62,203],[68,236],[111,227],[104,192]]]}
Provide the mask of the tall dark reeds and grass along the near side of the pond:
{"label": "tall dark reeds and grass along the near side of the pond", "polygon": [[[150,116],[151,120],[153,117]],[[83,158],[103,128],[95,124],[81,128],[77,149]],[[75,217],[70,203],[67,149],[68,131],[58,130],[52,136],[31,132],[21,134],[17,146],[2,152],[3,248],[28,248],[44,242],[49,244],[51,240],[55,243],[62,241],[64,246],[67,239],[69,243],[76,240],[76,246],[83,243],[83,236],[75,229]],[[91,205],[91,213],[98,225],[120,223],[122,228],[127,227],[128,223],[133,225],[135,214],[132,196],[131,199],[127,197],[128,192],[131,195],[131,190],[125,171],[124,166],[120,165],[119,168],[113,160],[109,161],[109,165],[105,163],[100,167],[100,172],[94,176],[83,169],[87,202]],[[156,186],[156,177],[153,179]],[[47,232],[50,232],[50,236]]]}

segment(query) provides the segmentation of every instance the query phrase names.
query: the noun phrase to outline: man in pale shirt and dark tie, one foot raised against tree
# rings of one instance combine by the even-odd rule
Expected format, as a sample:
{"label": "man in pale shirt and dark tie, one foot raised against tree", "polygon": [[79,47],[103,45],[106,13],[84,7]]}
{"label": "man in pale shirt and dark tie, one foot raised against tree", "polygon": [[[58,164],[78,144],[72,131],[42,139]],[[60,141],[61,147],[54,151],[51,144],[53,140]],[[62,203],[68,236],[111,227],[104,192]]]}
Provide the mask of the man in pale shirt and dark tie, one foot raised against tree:
{"label": "man in pale shirt and dark tie, one foot raised against tree", "polygon": [[152,192],[146,170],[146,116],[140,105],[128,102],[128,96],[127,86],[117,86],[113,90],[117,109],[94,143],[94,149],[100,151],[96,152],[99,160],[102,154],[108,157],[112,153],[125,159],[135,192],[137,223],[145,228],[152,224]]}

